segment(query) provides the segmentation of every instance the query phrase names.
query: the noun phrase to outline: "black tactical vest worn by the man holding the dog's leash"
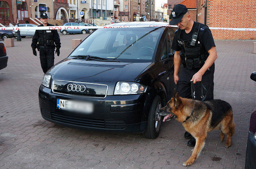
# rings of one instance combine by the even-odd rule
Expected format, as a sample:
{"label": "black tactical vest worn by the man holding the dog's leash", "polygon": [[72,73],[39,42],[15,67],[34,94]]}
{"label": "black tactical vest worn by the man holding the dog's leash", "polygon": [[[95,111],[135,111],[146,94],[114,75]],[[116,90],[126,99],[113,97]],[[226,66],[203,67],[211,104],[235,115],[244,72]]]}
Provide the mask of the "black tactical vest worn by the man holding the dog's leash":
{"label": "black tactical vest worn by the man holding the dog's leash", "polygon": [[198,32],[195,46],[190,45],[192,36],[188,40],[182,40],[180,38],[181,29],[177,29],[175,31],[178,46],[181,47],[181,63],[183,64],[184,67],[187,67],[188,69],[201,68],[204,62],[206,61],[207,57],[209,56],[209,53],[203,47],[201,42],[204,30],[209,28],[208,26],[200,24],[198,22],[194,22],[194,24],[194,29],[191,30],[193,31],[192,36],[195,32]]}

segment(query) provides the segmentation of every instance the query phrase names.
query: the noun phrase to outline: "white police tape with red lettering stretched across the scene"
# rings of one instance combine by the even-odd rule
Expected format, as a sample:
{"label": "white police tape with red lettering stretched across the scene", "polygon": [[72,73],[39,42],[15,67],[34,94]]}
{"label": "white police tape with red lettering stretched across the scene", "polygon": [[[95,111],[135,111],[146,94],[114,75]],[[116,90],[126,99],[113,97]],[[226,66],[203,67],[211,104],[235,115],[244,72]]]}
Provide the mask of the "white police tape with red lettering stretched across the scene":
{"label": "white police tape with red lettering stretched across the scene", "polygon": [[[145,28],[145,27],[174,27],[174,25],[149,25],[149,26],[46,26],[46,27],[0,27],[0,30],[67,30],[67,29],[111,29],[111,28]],[[237,30],[256,32],[256,28],[218,28],[209,27],[211,30]]]}

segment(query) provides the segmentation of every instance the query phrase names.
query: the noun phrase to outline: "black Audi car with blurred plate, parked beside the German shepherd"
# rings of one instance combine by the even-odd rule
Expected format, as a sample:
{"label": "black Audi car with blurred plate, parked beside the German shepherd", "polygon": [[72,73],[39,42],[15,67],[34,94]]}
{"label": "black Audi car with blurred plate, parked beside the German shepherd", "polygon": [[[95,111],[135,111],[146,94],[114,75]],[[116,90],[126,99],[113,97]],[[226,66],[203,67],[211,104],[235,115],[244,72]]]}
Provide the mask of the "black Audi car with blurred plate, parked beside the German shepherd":
{"label": "black Audi car with blurred plate, parked beside the German shepherd", "polygon": [[160,132],[158,109],[174,91],[175,28],[164,22],[115,23],[152,26],[97,29],[43,77],[42,117],[55,124],[107,132]]}

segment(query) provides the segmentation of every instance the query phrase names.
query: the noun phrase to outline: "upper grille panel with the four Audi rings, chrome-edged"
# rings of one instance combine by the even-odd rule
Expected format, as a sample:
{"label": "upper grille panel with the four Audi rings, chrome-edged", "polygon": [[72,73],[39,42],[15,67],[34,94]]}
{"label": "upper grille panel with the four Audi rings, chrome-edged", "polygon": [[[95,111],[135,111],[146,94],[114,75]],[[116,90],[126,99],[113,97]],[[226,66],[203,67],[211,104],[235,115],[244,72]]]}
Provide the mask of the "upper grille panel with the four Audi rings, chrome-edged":
{"label": "upper grille panel with the four Audi rings, chrome-edged", "polygon": [[[68,86],[74,86],[74,88],[68,88]],[[77,88],[75,86],[84,86],[84,88]],[[107,96],[108,86],[105,84],[84,83],[77,81],[65,81],[54,80],[52,85],[53,93],[73,95],[73,96],[90,96],[97,98],[105,98]]]}

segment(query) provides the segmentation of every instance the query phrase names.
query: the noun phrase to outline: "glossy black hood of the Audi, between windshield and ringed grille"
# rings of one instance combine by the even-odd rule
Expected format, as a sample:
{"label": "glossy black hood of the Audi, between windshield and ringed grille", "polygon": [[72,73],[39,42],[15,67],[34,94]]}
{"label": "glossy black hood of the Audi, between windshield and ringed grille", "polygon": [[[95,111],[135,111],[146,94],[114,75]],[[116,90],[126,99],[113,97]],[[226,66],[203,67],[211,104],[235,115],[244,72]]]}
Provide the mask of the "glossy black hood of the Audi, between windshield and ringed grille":
{"label": "glossy black hood of the Audi, between windshield and ringed grille", "polygon": [[150,63],[97,62],[64,59],[55,64],[47,74],[53,80],[97,82],[100,84],[117,81],[135,81]]}

